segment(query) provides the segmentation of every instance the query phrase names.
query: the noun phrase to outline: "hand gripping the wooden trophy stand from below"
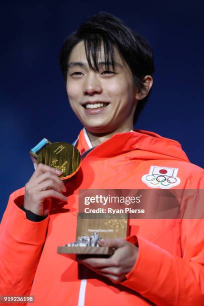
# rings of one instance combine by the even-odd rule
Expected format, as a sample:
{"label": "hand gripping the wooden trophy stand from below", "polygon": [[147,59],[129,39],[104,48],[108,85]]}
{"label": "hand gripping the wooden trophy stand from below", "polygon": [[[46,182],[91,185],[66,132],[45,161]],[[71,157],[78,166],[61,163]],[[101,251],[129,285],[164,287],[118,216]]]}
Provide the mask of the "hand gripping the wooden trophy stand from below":
{"label": "hand gripping the wooden trophy stand from below", "polygon": [[77,261],[96,273],[108,277],[114,283],[124,280],[136,262],[138,247],[121,238],[101,239],[98,244],[115,248],[114,254],[108,258],[77,258]]}

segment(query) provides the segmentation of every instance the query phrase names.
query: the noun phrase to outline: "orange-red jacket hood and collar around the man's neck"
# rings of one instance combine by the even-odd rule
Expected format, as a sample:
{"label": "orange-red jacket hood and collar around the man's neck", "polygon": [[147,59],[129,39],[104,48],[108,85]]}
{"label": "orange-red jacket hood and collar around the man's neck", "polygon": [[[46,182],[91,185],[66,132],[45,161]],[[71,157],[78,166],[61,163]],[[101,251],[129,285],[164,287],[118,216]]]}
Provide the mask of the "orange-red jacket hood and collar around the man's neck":
{"label": "orange-red jacket hood and collar around the man's neck", "polygon": [[[85,128],[81,129],[74,144],[80,153],[92,147]],[[189,162],[178,141],[141,129],[115,133],[108,140],[97,145],[88,155],[107,158],[129,151],[133,151],[135,158],[177,159]]]}

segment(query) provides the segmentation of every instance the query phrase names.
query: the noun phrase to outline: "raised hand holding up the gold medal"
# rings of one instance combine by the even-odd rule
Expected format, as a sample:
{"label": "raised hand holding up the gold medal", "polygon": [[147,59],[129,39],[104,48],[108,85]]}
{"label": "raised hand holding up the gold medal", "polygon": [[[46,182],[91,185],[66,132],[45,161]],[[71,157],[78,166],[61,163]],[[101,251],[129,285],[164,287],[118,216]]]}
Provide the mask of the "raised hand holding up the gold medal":
{"label": "raised hand holding up the gold medal", "polygon": [[62,172],[56,168],[39,163],[25,184],[24,208],[35,214],[46,216],[51,209],[51,197],[60,201],[67,201],[62,194],[66,188],[57,176]]}

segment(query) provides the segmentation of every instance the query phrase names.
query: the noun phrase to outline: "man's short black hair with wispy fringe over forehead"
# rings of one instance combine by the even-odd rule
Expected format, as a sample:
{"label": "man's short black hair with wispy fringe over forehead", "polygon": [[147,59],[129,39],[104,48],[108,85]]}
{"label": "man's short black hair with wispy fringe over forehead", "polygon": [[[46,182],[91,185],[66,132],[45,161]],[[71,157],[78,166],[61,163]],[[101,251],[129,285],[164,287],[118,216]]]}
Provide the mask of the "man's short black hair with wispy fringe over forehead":
{"label": "man's short black hair with wispy fringe over forehead", "polygon": [[[99,12],[81,23],[76,31],[64,41],[60,50],[59,63],[65,82],[69,55],[73,47],[80,41],[84,41],[86,58],[91,69],[98,71],[98,56],[101,43],[103,43],[105,68],[109,68],[110,62],[114,69],[115,48],[121,59],[129,66],[135,85],[140,90],[145,89],[142,82],[144,76],[152,76],[154,72],[152,49],[146,39],[133,32],[122,20],[107,12]],[[134,123],[143,109],[149,93],[138,101],[134,113]]]}

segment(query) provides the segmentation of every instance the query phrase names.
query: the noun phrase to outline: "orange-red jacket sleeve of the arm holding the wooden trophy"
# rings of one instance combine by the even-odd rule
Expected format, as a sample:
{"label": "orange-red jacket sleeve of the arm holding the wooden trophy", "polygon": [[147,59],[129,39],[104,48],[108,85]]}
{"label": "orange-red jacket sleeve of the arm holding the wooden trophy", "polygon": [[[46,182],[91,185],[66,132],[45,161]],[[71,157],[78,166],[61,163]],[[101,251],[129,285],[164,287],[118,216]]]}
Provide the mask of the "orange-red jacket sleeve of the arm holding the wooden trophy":
{"label": "orange-red jacket sleeve of the arm holding the wooden trophy", "polygon": [[[198,193],[201,192],[201,207],[196,205],[196,194],[194,204],[187,207],[186,215],[181,220],[180,257],[173,256],[139,235],[127,239],[131,243],[133,240],[136,242],[139,252],[133,269],[126,275],[127,280],[122,282],[123,285],[156,305],[204,305],[203,191],[198,190]],[[189,218],[192,211],[200,218]]]}

